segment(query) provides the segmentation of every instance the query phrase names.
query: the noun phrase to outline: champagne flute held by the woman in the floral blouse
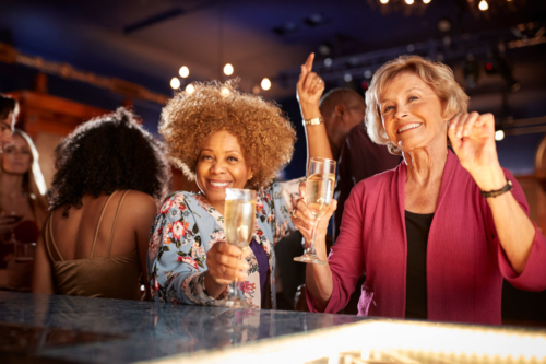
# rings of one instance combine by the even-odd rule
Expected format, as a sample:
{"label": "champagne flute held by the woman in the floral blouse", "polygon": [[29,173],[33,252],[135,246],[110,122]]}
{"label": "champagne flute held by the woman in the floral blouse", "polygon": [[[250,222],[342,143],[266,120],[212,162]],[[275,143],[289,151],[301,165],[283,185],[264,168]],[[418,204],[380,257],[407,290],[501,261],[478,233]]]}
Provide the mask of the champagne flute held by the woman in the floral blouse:
{"label": "champagne flute held by the woman in the floral blouse", "polygon": [[[247,249],[254,232],[256,191],[226,188],[224,218],[227,243],[242,250]],[[239,290],[237,278],[229,285],[229,296],[226,301],[226,306],[234,308],[250,307],[245,301],[242,292]]]}

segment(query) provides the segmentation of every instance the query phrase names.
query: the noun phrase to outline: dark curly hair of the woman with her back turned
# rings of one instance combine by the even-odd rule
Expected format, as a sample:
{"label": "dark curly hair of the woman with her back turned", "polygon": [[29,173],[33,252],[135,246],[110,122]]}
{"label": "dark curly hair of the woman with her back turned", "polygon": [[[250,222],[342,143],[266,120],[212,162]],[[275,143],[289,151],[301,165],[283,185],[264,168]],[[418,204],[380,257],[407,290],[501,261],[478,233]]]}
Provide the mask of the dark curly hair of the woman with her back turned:
{"label": "dark curly hair of the woman with her back turned", "polygon": [[66,216],[71,207],[82,207],[84,195],[132,189],[161,203],[168,192],[170,169],[162,143],[122,107],[79,126],[55,154],[49,208],[66,207]]}

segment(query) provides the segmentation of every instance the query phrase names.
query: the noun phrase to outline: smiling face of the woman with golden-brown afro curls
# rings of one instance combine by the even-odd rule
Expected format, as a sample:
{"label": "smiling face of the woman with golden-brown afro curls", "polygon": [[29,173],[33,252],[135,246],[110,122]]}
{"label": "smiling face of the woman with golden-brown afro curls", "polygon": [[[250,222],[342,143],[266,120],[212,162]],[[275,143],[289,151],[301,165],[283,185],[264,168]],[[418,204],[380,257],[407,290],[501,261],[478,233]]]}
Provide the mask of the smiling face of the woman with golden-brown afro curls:
{"label": "smiling face of the woman with golden-brown afro curls", "polygon": [[245,188],[252,172],[237,138],[226,130],[219,130],[209,136],[203,143],[195,175],[201,191],[216,208],[223,206],[226,188]]}

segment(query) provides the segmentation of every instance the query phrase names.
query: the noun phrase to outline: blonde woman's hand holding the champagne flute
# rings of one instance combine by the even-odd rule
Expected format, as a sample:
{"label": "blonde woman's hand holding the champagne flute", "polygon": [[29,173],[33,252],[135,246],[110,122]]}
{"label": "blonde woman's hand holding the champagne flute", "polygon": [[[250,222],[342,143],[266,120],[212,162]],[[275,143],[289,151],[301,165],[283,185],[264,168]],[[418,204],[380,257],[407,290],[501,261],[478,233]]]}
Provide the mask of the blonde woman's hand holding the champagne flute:
{"label": "blonde woman's hand holding the champagne flute", "polygon": [[[292,221],[294,222],[294,225],[299,230],[301,235],[304,235],[304,238],[306,239],[306,247],[309,247],[312,242],[312,228],[317,219],[305,203],[306,185],[307,183],[305,181],[299,184],[299,196],[301,198],[297,200],[295,209],[292,212]],[[320,240],[322,242],[322,244],[325,244],[328,223],[336,208],[337,200],[332,199],[327,212],[322,215],[322,218],[320,218],[319,223],[317,224],[317,243],[319,243]]]}

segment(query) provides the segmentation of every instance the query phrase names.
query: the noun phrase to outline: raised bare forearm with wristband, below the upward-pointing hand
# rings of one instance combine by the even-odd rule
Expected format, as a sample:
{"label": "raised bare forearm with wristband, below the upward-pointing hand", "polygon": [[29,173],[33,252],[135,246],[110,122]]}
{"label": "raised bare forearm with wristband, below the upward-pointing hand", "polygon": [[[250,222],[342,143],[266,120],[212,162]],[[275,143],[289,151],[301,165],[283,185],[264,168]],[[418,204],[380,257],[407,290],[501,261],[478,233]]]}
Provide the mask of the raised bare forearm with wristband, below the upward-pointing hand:
{"label": "raised bare forearm with wristband, below the upward-pointing hand", "polygon": [[[302,104],[301,115],[305,120],[320,118],[321,114],[319,105]],[[321,122],[319,125],[306,126],[306,139],[308,162],[311,157],[322,157],[329,160],[332,158],[332,150],[330,149],[330,142],[328,141],[327,128],[324,127],[324,122]]]}

